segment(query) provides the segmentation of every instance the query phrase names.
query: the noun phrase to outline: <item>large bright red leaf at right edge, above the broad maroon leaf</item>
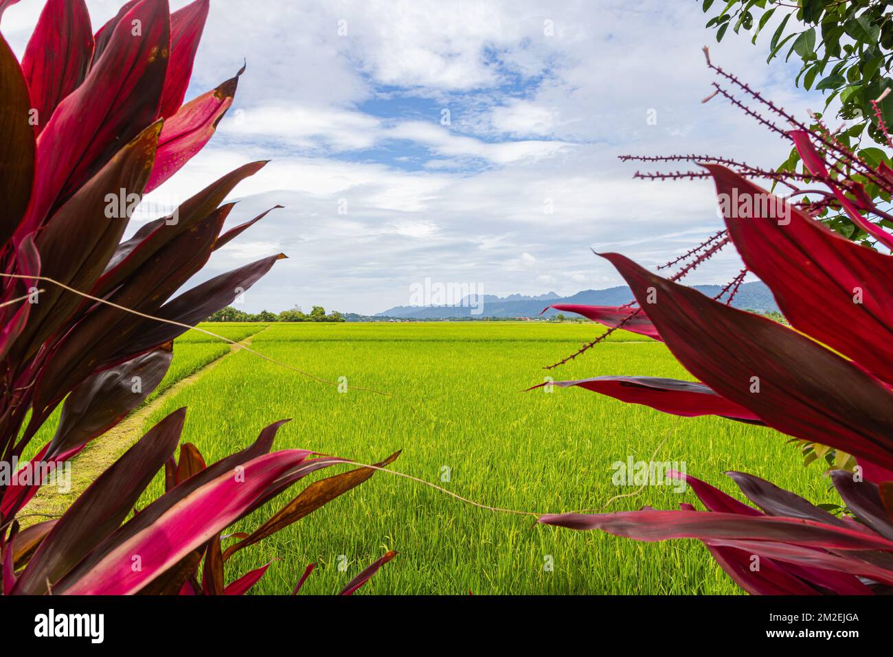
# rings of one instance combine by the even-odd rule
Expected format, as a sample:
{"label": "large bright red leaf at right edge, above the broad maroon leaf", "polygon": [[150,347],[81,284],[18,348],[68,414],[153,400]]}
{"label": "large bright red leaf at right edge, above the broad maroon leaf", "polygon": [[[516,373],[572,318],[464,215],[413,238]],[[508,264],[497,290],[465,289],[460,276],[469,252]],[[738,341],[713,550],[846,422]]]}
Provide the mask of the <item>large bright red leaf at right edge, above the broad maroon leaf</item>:
{"label": "large bright red leaf at right edge, above the broad maroon leaf", "polygon": [[[769,195],[718,164],[705,168],[717,194]],[[783,207],[781,222],[758,214],[726,217],[741,258],[772,289],[792,326],[893,383],[893,258],[850,242],[795,207]]]}

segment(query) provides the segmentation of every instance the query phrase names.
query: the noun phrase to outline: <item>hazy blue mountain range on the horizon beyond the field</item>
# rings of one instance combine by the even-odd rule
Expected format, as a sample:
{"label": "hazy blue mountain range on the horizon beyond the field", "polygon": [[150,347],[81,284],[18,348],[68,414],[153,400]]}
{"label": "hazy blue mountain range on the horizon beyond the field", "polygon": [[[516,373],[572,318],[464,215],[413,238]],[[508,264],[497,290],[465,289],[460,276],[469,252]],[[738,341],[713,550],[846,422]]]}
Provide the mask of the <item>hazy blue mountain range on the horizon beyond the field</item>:
{"label": "hazy blue mountain range on the horizon beyond the field", "polygon": [[[719,285],[692,286],[707,296],[715,296],[720,293]],[[604,290],[583,290],[572,296],[560,296],[555,292],[545,295],[469,295],[465,296],[459,304],[412,306],[401,305],[379,312],[375,317],[388,317],[409,320],[447,320],[458,318],[480,319],[484,317],[537,317],[540,312],[551,304],[586,304],[586,305],[622,305],[632,299],[630,288],[626,286],[608,287]],[[778,304],[772,297],[769,287],[762,281],[745,283],[739,287],[738,294],[732,301],[732,306],[745,310],[758,312],[778,312]],[[480,312],[474,312],[480,309]],[[544,317],[552,317],[558,311],[549,309]]]}

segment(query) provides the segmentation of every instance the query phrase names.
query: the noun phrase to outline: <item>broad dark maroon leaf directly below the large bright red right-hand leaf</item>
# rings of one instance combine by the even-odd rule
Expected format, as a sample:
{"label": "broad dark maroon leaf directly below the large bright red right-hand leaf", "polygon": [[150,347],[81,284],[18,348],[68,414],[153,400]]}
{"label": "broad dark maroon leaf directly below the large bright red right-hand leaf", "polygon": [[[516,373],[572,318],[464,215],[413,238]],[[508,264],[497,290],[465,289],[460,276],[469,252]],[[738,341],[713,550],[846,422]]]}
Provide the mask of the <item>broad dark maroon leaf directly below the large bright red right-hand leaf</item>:
{"label": "broad dark maroon leaf directly below the large bright red right-hand leaf", "polygon": [[641,303],[656,295],[648,316],[664,342],[717,394],[790,436],[893,467],[893,395],[878,379],[777,322],[715,302],[620,254],[604,257]]}

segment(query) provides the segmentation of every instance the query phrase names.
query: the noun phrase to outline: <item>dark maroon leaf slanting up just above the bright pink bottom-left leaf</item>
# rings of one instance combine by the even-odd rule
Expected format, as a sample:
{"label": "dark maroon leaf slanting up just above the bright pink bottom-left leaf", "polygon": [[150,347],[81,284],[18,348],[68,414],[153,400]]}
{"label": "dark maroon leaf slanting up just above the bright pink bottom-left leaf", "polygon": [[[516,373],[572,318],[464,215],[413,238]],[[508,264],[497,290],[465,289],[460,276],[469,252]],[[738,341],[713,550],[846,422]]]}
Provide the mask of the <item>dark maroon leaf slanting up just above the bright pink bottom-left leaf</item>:
{"label": "dark maroon leaf slanting up just above the bright pink bottom-left leaf", "polygon": [[[54,584],[62,578],[119,528],[173,453],[185,418],[185,408],[172,412],[96,478],[40,544],[19,578],[16,593],[46,593],[47,582]],[[140,554],[129,554],[131,566],[130,557]]]}

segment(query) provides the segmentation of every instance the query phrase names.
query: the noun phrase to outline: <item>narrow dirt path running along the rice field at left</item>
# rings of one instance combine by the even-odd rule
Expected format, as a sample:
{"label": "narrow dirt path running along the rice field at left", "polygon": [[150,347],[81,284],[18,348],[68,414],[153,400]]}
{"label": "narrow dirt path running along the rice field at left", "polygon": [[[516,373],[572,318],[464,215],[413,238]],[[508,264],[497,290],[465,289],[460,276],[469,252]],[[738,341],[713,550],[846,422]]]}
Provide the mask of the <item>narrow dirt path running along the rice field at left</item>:
{"label": "narrow dirt path running along the rice field at left", "polygon": [[[261,328],[257,333],[239,341],[239,345],[250,345],[252,338],[263,333],[269,327]],[[33,525],[47,517],[61,515],[78,495],[96,480],[113,462],[117,461],[122,453],[125,453],[131,445],[143,436],[143,428],[150,415],[171,396],[177,395],[180,390],[191,386],[205,372],[217,367],[230,353],[238,351],[238,346],[230,345],[230,351],[223,353],[211,362],[193,372],[188,377],[179,379],[161,395],[158,395],[149,403],[139,406],[124,420],[107,431],[103,436],[90,442],[84,451],[79,453],[71,461],[71,490],[68,493],[60,493],[56,487],[44,487],[38,491],[28,505],[21,510],[22,527]],[[176,356],[175,356],[176,357]],[[25,517],[27,516],[27,517]]]}

